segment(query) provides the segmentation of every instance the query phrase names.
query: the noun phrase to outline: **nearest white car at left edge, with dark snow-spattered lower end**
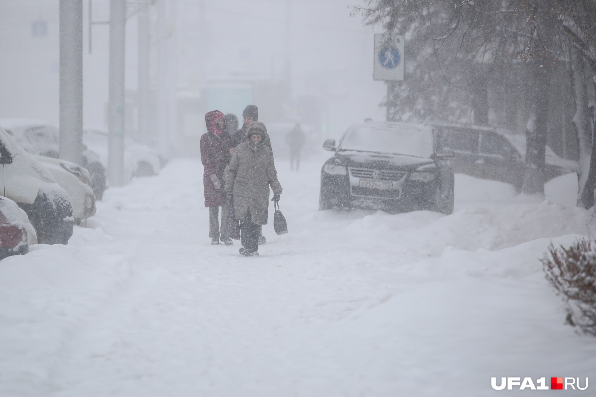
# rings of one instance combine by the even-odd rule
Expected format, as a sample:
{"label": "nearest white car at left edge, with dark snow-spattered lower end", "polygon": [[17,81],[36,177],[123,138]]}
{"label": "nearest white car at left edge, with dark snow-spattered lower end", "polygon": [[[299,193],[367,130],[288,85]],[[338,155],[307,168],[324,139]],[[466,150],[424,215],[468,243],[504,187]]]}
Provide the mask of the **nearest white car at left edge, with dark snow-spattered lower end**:
{"label": "nearest white car at left edge, with dark snow-spattered lower end", "polygon": [[66,244],[74,219],[68,193],[49,171],[0,128],[0,195],[22,208],[35,228],[39,243]]}

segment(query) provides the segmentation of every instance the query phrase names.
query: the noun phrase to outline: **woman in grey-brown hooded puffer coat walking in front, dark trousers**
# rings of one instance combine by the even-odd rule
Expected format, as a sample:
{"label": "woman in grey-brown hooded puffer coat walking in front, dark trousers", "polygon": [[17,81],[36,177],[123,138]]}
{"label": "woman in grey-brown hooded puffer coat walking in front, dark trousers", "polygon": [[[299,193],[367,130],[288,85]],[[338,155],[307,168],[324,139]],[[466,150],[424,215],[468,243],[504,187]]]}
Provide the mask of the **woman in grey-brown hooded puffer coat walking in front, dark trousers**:
{"label": "woman in grey-brown hooded puffer coat walking in front, dark trousers", "polygon": [[283,189],[277,180],[273,152],[263,145],[268,137],[265,124],[253,121],[246,130],[245,143],[234,149],[234,155],[225,168],[225,195],[234,201],[236,219],[240,221],[242,246],[240,254],[259,255],[257,239],[260,225],[267,224],[269,186],[272,201],[279,201]]}

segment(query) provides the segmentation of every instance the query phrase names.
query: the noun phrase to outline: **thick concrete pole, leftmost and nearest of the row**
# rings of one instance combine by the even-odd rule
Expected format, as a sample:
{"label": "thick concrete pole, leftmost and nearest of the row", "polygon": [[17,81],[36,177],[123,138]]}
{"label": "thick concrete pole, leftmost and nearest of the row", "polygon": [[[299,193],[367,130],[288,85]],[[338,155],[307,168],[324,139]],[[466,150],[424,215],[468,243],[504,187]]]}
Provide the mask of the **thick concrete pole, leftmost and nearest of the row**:
{"label": "thick concrete pole, leftmost and nearest of the row", "polygon": [[83,162],[83,0],[60,0],[60,158]]}

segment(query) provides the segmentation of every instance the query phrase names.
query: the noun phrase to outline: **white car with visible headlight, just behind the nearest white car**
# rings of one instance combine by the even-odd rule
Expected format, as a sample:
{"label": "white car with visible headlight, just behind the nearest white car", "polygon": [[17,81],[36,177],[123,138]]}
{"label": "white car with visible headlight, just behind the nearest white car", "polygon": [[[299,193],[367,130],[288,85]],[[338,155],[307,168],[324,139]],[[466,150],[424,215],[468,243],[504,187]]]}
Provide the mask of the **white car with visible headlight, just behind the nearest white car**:
{"label": "white car with visible headlight, just behind the nearest white car", "polygon": [[80,224],[95,215],[95,196],[91,189],[89,171],[74,162],[59,158],[38,156],[36,159],[48,168],[58,185],[69,193],[76,223]]}

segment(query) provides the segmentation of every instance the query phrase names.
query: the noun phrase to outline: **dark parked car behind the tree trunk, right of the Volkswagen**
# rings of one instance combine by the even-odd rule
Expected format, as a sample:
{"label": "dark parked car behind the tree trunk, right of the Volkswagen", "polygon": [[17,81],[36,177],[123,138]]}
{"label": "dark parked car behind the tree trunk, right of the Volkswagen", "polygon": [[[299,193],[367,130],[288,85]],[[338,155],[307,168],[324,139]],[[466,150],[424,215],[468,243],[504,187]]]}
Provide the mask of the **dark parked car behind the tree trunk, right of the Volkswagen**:
{"label": "dark parked car behind the tree trunk, right of the Volkswagen", "polygon": [[[493,127],[433,123],[443,147],[453,149],[455,172],[511,183],[522,189],[526,168],[526,136]],[[545,181],[573,172],[577,162],[546,148]]]}

